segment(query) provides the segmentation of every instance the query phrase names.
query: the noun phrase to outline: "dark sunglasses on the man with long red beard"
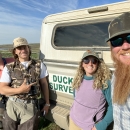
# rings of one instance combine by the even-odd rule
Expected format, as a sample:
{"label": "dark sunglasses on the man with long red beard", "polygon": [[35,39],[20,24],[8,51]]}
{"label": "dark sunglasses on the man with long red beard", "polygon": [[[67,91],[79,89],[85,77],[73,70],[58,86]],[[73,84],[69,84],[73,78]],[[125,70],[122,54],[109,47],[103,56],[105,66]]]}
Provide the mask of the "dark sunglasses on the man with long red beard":
{"label": "dark sunglasses on the man with long red beard", "polygon": [[124,40],[130,44],[130,34],[125,37],[115,37],[111,39],[110,42],[113,47],[118,47],[123,45]]}

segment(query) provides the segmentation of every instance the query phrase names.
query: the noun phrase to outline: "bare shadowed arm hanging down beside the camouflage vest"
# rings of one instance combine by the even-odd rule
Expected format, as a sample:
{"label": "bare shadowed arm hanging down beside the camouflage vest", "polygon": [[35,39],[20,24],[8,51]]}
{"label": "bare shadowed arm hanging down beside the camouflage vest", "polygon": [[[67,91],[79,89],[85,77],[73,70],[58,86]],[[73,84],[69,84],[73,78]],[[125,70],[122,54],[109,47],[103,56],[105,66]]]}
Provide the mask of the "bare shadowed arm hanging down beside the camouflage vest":
{"label": "bare shadowed arm hanging down beside the camouflage vest", "polygon": [[49,89],[48,89],[48,83],[47,83],[46,77],[40,79],[40,86],[41,86],[42,93],[44,95],[44,99],[46,101],[46,104],[43,107],[42,111],[45,111],[46,114],[47,114],[48,110],[49,110],[49,104],[50,104],[50,102],[49,102]]}

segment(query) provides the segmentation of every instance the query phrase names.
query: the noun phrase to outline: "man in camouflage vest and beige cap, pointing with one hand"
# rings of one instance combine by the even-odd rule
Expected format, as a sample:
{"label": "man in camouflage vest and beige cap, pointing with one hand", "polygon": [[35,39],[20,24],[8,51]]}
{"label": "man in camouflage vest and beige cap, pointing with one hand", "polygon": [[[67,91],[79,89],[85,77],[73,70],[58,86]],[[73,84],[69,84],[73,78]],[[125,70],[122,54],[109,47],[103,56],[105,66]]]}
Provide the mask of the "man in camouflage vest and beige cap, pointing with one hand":
{"label": "man in camouflage vest and beige cap, pointing with one hand", "polygon": [[41,91],[46,101],[42,111],[47,114],[50,106],[48,73],[40,60],[31,59],[25,38],[14,39],[12,54],[15,61],[4,67],[0,80],[0,93],[9,97],[3,127],[4,130],[37,130],[37,98]]}

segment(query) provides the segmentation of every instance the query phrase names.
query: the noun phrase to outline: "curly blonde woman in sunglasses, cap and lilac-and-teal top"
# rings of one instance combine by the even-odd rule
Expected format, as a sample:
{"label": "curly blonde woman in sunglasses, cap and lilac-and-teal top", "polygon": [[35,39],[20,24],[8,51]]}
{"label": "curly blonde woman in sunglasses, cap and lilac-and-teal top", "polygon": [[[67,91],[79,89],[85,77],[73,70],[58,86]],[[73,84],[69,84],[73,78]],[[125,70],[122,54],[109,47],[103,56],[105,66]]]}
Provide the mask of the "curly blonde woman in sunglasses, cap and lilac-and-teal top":
{"label": "curly blonde woman in sunglasses, cap and lilac-and-teal top", "polygon": [[113,121],[111,72],[93,51],[86,51],[72,87],[74,102],[70,110],[69,130],[106,130]]}

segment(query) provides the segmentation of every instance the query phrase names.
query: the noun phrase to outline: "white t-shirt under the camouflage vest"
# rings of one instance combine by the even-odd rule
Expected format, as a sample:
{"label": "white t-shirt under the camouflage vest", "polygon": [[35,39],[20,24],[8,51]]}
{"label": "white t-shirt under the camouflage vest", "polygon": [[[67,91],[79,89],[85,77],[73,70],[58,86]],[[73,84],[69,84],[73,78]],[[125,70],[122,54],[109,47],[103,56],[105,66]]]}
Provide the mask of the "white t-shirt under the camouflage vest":
{"label": "white t-shirt under the camouflage vest", "polygon": [[[21,62],[21,64],[23,64],[24,67],[27,68],[28,67],[28,62],[29,61]],[[46,66],[43,63],[41,63],[40,79],[42,79],[42,78],[44,78],[46,76],[48,76],[48,72],[47,72]],[[6,82],[6,83],[10,83],[11,82],[11,77],[10,77],[10,74],[9,74],[9,70],[7,69],[6,66],[3,69],[0,82]]]}

